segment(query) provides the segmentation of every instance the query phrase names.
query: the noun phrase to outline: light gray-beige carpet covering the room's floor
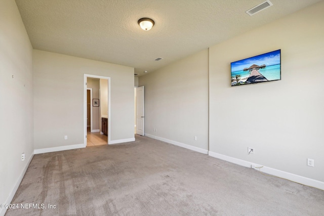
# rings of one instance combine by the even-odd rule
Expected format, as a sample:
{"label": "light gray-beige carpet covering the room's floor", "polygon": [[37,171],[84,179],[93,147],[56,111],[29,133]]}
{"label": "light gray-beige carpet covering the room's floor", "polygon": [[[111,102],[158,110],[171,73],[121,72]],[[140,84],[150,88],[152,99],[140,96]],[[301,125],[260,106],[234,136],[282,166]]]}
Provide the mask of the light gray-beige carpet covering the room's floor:
{"label": "light gray-beige carpet covering the room's floor", "polygon": [[7,216],[323,215],[324,191],[136,136],[34,155],[12,203],[46,209],[9,209]]}

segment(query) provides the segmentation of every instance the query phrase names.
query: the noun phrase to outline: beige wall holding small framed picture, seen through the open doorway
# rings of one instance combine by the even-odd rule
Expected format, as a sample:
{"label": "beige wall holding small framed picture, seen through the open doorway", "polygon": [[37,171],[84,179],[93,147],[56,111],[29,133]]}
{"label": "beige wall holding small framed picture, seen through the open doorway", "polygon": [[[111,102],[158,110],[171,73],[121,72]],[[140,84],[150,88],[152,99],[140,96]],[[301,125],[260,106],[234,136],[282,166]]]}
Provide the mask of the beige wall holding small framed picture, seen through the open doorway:
{"label": "beige wall holding small framed picture, seen through the open doorway", "polygon": [[[99,90],[100,90],[100,79],[97,78],[87,78],[87,88],[92,89],[92,99],[99,99]],[[99,102],[100,106],[100,102]],[[100,118],[100,107],[92,107],[92,129],[99,129],[99,118]]]}

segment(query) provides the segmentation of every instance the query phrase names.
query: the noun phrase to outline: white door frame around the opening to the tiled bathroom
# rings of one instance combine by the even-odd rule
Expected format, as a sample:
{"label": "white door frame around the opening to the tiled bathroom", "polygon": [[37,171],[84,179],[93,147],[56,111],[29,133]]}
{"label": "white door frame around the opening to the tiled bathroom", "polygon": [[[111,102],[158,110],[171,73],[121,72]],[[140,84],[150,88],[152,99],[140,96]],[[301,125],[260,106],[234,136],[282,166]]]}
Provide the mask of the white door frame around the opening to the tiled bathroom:
{"label": "white door frame around the opening to the tiled bathroom", "polygon": [[[98,75],[92,75],[92,74],[84,74],[84,94],[83,94],[83,120],[84,120],[84,147],[87,147],[87,78],[98,78],[98,79],[107,79],[108,81],[108,145],[111,142],[111,124],[110,124],[110,77],[108,76],[98,76]],[[100,116],[101,118],[101,116]],[[92,124],[92,123],[91,123]]]}

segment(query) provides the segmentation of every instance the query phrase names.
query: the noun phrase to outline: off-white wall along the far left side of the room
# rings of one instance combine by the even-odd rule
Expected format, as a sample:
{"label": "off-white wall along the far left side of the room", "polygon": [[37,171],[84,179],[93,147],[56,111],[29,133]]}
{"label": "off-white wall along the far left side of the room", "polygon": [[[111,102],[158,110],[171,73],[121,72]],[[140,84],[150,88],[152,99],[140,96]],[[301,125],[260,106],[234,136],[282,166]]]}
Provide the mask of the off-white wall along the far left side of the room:
{"label": "off-white wall along the far left side of the room", "polygon": [[[33,154],[31,59],[15,1],[0,1],[0,203],[11,202]],[[0,208],[0,215],[5,211]]]}

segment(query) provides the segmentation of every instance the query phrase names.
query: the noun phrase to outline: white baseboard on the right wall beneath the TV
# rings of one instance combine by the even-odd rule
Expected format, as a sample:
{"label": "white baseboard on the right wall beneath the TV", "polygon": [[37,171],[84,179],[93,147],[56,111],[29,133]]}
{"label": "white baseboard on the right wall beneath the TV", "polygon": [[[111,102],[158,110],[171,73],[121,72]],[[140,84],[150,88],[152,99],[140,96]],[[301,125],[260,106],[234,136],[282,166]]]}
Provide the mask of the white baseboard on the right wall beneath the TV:
{"label": "white baseboard on the right wall beneath the TV", "polygon": [[[219,154],[219,153],[215,153],[215,152],[211,152],[211,151],[208,152],[208,155],[210,155],[212,157],[216,157],[216,158],[221,159],[221,160],[231,162],[231,163],[235,163],[235,164],[238,164],[238,165],[241,165],[241,166],[245,166],[245,167],[250,167],[251,168],[252,166],[253,167],[262,166],[262,165],[252,163],[252,162],[249,162],[249,161],[246,161],[246,160],[241,160],[241,159],[237,159],[237,158],[234,158],[234,157],[229,157],[229,156]],[[259,168],[255,168],[255,169],[259,170]],[[260,171],[262,171],[262,172],[264,172],[266,174],[272,175],[272,176],[288,179],[290,181],[297,182],[297,183],[302,184],[302,185],[307,185],[307,186],[311,186],[311,187],[314,187],[314,188],[324,190],[324,182],[321,182],[321,181],[318,181],[318,180],[309,179],[309,178],[306,178],[306,177],[303,177],[303,176],[298,176],[298,175],[292,174],[290,172],[281,171],[281,170],[274,169],[274,168],[267,167],[267,166],[263,166],[262,168],[260,168]]]}

